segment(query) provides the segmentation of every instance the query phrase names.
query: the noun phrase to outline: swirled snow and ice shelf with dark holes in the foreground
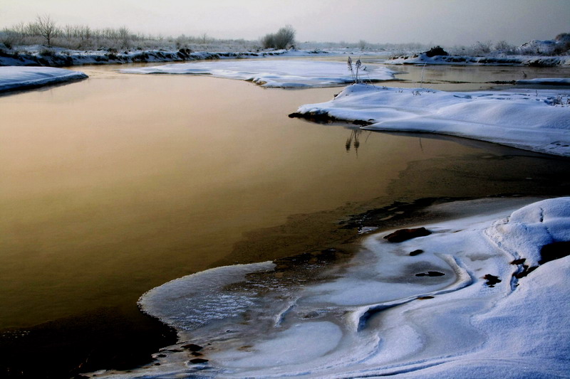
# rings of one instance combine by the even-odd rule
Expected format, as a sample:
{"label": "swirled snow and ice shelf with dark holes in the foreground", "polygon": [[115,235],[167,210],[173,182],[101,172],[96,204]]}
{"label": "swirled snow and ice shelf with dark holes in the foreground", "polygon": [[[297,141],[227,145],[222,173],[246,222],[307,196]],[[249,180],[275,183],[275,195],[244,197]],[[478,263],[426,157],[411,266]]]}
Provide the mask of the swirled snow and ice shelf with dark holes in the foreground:
{"label": "swirled snow and ice shelf with dark holes in the foreground", "polygon": [[[181,333],[178,345],[156,355],[160,365],[95,374],[99,378],[567,377],[570,257],[541,265],[538,261],[545,244],[570,241],[570,198],[522,208],[525,200],[515,200],[507,206],[487,200],[453,203],[455,208],[480,207],[486,212],[424,225],[430,235],[405,242],[388,242],[383,238],[388,233],[371,235],[363,251],[336,267],[333,279],[326,282],[285,290],[246,276],[239,287],[258,288],[263,296],[241,318],[232,316],[214,323],[214,328]],[[519,275],[529,267],[536,268],[527,276]],[[219,288],[226,275],[232,281],[248,269],[271,266],[210,270],[159,287],[155,296],[147,294],[141,302],[151,314],[177,309],[183,320],[185,307],[177,302],[191,306],[193,301],[199,304],[202,296],[189,287],[201,286],[202,280],[190,278],[202,277],[208,292],[207,283]],[[490,280],[494,277],[497,280]],[[168,322],[185,329],[185,321],[178,324],[176,317]],[[201,360],[184,350],[188,342],[204,347],[199,351]]]}

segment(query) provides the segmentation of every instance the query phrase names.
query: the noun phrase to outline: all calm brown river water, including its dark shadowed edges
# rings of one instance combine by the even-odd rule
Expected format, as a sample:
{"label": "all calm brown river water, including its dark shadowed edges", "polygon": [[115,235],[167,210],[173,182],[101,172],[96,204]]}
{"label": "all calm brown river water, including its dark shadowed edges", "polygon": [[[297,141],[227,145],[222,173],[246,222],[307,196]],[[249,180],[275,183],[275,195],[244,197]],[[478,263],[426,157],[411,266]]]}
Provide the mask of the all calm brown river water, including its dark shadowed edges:
{"label": "all calm brown river water, including its dark shadowed edges", "polygon": [[[339,89],[116,68],[78,68],[90,78],[0,97],[0,332],[56,321],[19,340],[0,333],[6,370],[10,360],[26,368],[21,357],[37,346],[64,372],[97,361],[98,338],[95,350],[124,353],[142,329],[142,341],[158,333],[135,306],[143,292],[214,265],[328,247],[354,213],[424,197],[570,192],[568,159],[287,117]],[[403,69],[408,81],[388,85],[417,86],[423,73],[431,87],[469,90],[519,70]]]}

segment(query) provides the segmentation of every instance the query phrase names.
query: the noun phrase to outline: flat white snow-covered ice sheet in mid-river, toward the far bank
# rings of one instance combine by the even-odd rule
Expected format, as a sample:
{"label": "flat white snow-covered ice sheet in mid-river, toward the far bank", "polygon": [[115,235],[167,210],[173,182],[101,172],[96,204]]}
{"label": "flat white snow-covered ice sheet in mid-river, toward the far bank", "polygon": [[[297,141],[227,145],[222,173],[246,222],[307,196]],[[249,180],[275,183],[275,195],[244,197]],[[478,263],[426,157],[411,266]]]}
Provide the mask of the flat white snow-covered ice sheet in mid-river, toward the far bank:
{"label": "flat white snow-covered ice sheet in mid-river, toward the far bank", "polygon": [[[346,63],[316,60],[238,60],[179,63],[155,67],[120,70],[131,74],[192,74],[217,78],[247,80],[261,87],[305,88],[336,87],[353,80]],[[361,71],[366,80],[393,80],[394,72],[383,67],[368,66]]]}

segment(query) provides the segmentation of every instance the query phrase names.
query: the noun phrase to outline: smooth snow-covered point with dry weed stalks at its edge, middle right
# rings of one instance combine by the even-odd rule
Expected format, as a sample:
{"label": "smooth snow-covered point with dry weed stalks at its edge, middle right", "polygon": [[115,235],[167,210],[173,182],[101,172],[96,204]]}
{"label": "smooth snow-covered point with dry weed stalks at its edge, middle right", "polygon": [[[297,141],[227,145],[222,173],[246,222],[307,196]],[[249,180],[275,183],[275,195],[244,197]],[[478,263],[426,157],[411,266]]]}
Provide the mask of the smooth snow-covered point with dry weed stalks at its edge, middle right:
{"label": "smooth snow-covered point with dry weed stalks at its edge, middle right", "polygon": [[297,115],[362,121],[366,129],[480,139],[570,156],[570,90],[445,92],[351,85]]}

